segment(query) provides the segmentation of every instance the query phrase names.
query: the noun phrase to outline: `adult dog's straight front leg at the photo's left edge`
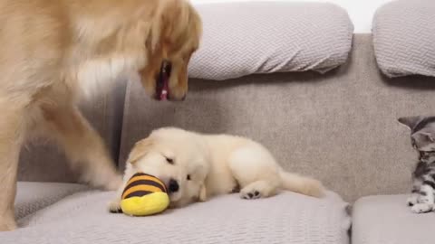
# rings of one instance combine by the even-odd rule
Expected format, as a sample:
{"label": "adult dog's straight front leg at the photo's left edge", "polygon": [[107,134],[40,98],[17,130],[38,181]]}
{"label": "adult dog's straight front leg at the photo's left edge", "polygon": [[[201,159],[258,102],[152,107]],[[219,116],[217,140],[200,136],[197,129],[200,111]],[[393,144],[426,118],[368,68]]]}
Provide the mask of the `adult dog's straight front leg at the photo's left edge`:
{"label": "adult dog's straight front leg at the photo's left edge", "polygon": [[14,198],[18,158],[24,139],[24,113],[0,101],[0,231],[14,230]]}

